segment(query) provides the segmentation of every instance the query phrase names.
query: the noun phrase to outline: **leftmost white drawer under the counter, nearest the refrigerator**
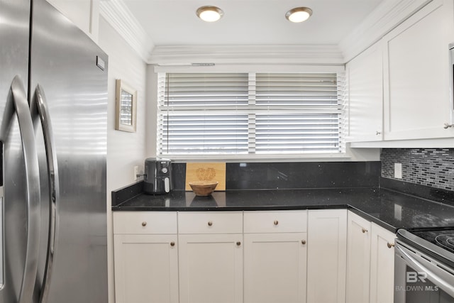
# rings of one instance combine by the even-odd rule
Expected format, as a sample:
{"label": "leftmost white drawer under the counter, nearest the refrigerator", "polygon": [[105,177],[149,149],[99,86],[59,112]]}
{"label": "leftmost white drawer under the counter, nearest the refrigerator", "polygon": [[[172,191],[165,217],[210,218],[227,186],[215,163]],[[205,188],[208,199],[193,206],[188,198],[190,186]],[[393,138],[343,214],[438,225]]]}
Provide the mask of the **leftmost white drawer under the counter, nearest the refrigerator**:
{"label": "leftmost white drawer under the counter, nearest the refrigerator", "polygon": [[177,212],[114,211],[114,233],[177,233]]}

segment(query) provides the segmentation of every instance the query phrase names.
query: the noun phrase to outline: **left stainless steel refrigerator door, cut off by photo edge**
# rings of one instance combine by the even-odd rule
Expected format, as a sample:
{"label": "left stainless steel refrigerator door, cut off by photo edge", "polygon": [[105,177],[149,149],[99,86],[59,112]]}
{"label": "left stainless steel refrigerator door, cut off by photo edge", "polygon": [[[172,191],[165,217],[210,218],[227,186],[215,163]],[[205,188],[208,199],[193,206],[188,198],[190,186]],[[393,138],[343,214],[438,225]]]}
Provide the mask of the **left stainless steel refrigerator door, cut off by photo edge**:
{"label": "left stainless steel refrigerator door, cut off by photo edge", "polygon": [[[0,124],[3,128],[0,139],[0,199],[3,207],[3,233],[0,233],[1,303],[31,302],[36,274],[36,260],[33,260],[36,256],[27,252],[27,248],[38,245],[38,233],[34,239],[31,236],[38,231],[39,221],[36,220],[39,218],[35,218],[35,223],[28,219],[39,213],[28,209],[28,204],[32,202],[34,207],[37,206],[39,194],[33,194],[29,189],[35,186],[34,190],[39,190],[39,180],[28,184],[31,175],[26,171],[26,159],[31,160],[31,155],[25,155],[25,152],[29,153],[34,144],[24,146],[22,133],[25,131],[28,139],[33,141],[27,104],[30,6],[30,0],[0,0]],[[13,96],[15,78],[16,96]],[[30,124],[27,131],[25,125],[19,126],[18,110],[22,111],[21,124]],[[36,155],[34,158],[31,161],[36,161],[35,165],[38,165]],[[37,179],[38,167],[35,168]]]}

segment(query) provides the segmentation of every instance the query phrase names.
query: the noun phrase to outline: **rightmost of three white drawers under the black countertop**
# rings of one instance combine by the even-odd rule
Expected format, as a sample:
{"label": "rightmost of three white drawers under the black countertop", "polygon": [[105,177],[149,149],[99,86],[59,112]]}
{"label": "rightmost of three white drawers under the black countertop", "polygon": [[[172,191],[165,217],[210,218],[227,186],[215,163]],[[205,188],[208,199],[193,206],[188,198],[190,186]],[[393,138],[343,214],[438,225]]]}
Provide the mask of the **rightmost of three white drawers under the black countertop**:
{"label": "rightmost of three white drawers under the black countertop", "polygon": [[245,233],[303,233],[307,211],[245,211]]}

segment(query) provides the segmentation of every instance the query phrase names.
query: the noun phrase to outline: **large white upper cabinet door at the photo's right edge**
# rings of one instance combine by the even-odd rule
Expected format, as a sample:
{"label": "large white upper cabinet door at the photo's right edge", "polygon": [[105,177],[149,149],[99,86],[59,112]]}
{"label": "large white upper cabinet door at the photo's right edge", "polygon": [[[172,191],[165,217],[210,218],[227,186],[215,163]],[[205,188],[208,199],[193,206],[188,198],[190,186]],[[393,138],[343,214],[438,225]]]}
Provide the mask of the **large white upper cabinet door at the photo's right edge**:
{"label": "large white upper cabinet door at the photo's right edge", "polygon": [[384,139],[443,138],[453,112],[453,1],[434,0],[383,38]]}

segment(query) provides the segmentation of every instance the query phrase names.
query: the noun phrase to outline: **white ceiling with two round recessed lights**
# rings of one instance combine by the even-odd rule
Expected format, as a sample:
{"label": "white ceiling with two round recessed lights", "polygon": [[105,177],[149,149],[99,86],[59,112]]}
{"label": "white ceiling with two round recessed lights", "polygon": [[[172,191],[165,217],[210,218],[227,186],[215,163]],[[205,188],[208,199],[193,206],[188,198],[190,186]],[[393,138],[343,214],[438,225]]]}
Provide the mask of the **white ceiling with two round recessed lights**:
{"label": "white ceiling with two round recessed lights", "polygon": [[[384,0],[123,0],[155,46],[335,44]],[[218,6],[224,16],[206,23],[200,6]],[[307,6],[314,13],[291,23],[285,13]],[[254,13],[255,11],[255,13]]]}

